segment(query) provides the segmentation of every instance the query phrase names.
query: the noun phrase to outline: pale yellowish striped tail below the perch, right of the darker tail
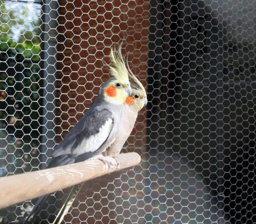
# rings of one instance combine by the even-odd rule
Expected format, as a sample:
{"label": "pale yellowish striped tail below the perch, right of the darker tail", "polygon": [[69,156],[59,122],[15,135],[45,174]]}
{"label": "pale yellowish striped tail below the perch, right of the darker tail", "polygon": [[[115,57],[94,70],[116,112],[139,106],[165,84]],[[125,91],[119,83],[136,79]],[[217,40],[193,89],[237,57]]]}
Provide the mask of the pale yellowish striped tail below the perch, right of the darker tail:
{"label": "pale yellowish striped tail below the perch, right of the darker tail", "polygon": [[82,185],[83,185],[82,183],[77,184],[77,185],[73,186],[70,189],[70,191],[69,191],[69,193],[68,193],[68,195],[67,195],[67,197],[64,201],[64,204],[63,204],[61,210],[59,211],[56,219],[54,220],[53,224],[61,224],[61,222],[64,219],[64,216],[68,212],[68,210],[71,207],[73,201],[75,200],[76,196],[78,195],[79,191],[81,190]]}

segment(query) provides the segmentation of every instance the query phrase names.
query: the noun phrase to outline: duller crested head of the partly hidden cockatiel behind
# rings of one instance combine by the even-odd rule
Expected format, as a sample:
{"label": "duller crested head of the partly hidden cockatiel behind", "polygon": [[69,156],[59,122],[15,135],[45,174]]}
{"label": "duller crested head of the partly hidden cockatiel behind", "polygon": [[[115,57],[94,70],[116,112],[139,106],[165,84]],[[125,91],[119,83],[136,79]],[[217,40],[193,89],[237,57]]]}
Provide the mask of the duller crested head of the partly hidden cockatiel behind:
{"label": "duller crested head of the partly hidden cockatiel behind", "polygon": [[131,78],[131,95],[126,98],[126,104],[130,106],[134,111],[139,112],[144,106],[147,105],[147,93],[141,82],[133,75],[127,64],[129,73],[128,76]]}

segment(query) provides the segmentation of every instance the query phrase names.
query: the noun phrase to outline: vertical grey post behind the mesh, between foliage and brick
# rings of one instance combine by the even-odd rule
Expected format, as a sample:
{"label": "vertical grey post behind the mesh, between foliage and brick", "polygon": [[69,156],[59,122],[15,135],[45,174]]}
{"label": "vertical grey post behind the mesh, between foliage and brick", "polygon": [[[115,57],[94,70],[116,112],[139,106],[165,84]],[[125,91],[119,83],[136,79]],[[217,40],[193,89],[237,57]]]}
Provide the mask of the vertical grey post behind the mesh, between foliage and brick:
{"label": "vertical grey post behind the mesh, between foliage and brick", "polygon": [[[51,3],[51,7],[50,4]],[[56,117],[56,71],[57,71],[57,8],[56,0],[46,0],[42,6],[43,10],[43,121],[42,121],[42,147],[41,166],[46,167],[47,149],[55,146],[55,117]],[[47,12],[47,13],[46,13]]]}

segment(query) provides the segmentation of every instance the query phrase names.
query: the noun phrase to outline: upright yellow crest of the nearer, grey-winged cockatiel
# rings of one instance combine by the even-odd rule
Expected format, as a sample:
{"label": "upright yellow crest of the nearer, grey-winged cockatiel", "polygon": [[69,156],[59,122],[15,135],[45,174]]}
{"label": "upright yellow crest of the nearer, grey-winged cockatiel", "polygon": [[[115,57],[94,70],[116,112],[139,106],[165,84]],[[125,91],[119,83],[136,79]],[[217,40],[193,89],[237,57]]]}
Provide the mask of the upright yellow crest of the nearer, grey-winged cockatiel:
{"label": "upright yellow crest of the nearer, grey-winged cockatiel", "polygon": [[121,47],[118,51],[114,48],[110,50],[110,74],[115,77],[117,80],[129,81],[128,70],[126,68],[124,59],[122,57]]}

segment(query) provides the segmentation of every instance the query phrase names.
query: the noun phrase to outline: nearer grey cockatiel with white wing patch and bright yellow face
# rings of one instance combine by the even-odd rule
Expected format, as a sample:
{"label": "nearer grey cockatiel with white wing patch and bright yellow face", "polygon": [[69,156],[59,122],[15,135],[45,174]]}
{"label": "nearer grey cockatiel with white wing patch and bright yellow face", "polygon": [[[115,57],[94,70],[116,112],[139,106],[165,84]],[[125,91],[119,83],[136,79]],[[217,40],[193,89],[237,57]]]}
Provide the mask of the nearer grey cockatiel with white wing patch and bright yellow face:
{"label": "nearer grey cockatiel with white wing patch and bright yellow face", "polygon": [[[110,60],[109,68],[113,78],[101,85],[90,109],[54,149],[48,168],[73,164],[92,157],[100,159],[103,163],[111,163],[107,157],[97,155],[115,141],[118,128],[122,126],[122,108],[131,94],[131,86],[121,48],[117,52],[111,49]],[[32,214],[33,218],[37,215],[48,196],[38,199],[24,224]]]}

